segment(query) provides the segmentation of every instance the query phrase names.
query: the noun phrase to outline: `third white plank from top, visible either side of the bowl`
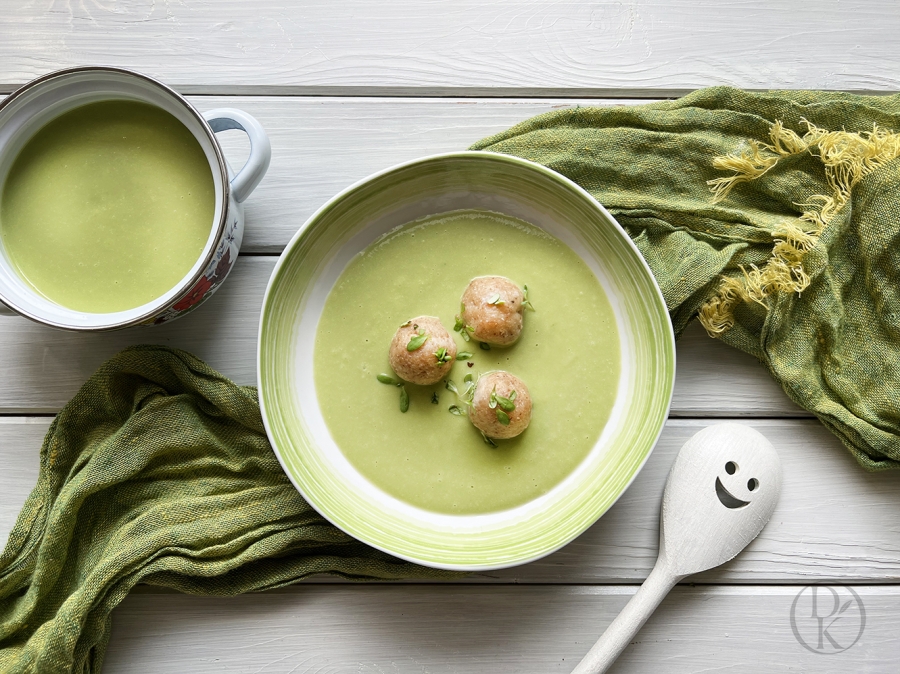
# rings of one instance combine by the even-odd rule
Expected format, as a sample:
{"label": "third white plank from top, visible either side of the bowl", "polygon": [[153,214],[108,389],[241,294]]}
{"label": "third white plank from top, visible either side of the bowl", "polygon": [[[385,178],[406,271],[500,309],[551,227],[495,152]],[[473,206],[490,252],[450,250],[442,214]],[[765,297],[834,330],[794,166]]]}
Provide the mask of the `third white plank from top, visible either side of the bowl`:
{"label": "third white plank from top, visible either side of the bowl", "polygon": [[[269,256],[240,256],[228,282],[197,311],[157,327],[110,333],[51,330],[0,316],[0,413],[55,412],[107,358],[132,344],[186,349],[240,384],[256,383],[256,337]],[[694,326],[678,343],[674,416],[805,414],[754,358]]]}

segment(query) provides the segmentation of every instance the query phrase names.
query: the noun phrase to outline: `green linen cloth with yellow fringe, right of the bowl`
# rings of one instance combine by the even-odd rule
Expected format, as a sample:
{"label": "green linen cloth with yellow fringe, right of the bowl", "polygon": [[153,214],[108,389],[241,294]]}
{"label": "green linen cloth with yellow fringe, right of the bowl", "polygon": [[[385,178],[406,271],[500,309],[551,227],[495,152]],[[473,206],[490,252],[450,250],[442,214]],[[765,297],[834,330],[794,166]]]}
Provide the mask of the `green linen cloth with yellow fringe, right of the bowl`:
{"label": "green linen cloth with yellow fringe, right of the bowl", "polygon": [[584,187],[646,258],[676,334],[699,315],[877,470],[900,466],[893,129],[897,95],[716,87],[557,110],[473,149]]}

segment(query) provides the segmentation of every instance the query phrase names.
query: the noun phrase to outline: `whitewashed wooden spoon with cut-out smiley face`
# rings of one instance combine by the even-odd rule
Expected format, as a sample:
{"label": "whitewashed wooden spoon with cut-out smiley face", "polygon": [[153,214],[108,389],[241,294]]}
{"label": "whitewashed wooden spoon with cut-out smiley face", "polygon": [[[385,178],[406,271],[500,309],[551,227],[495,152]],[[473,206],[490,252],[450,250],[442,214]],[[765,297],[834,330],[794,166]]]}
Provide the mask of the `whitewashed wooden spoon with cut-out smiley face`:
{"label": "whitewashed wooden spoon with cut-out smiley face", "polygon": [[688,440],[666,480],[656,565],[573,674],[605,672],[676,583],[747,547],[780,491],[781,462],[758,431],[717,424]]}

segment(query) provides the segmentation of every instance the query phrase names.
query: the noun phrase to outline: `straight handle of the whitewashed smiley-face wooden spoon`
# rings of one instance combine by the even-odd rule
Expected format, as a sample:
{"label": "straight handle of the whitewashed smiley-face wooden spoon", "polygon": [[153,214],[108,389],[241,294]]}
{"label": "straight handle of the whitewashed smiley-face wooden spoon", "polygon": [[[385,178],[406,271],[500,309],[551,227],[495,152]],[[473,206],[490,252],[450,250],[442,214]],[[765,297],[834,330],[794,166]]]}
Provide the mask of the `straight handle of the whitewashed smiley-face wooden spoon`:
{"label": "straight handle of the whitewashed smiley-face wooden spoon", "polygon": [[657,560],[647,580],[606,628],[572,674],[602,674],[609,669],[681,578],[683,576],[673,575],[665,564]]}

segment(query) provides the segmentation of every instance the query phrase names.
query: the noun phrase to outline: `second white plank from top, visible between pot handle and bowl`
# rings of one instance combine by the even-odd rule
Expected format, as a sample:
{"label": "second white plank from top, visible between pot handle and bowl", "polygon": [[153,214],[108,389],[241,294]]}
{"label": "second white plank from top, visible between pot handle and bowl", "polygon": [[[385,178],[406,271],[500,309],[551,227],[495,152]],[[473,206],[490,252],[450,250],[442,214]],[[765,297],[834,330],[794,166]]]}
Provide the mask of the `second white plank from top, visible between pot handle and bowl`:
{"label": "second white plank from top, visible between pot handle and bowl", "polygon": [[[578,104],[628,101],[347,99],[193,96],[200,110],[236,107],[270,135],[272,163],[246,202],[245,252],[279,253],[322,204],[394,164],[465,150],[534,115]],[[244,163],[244,134],[220,134],[229,160]]]}

